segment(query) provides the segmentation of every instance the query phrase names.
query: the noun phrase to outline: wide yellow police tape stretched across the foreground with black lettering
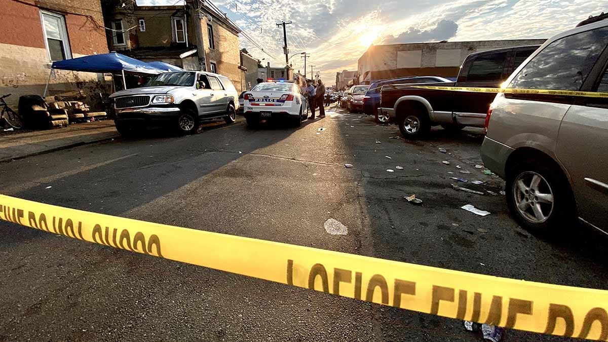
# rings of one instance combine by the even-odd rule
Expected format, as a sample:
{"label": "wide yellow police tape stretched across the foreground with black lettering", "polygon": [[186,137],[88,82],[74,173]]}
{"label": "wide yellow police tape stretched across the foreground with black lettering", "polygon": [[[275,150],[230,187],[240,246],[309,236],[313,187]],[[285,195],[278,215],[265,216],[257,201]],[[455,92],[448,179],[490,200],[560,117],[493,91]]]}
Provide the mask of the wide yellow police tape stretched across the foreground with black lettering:
{"label": "wide yellow police tape stretched across the foreground with black lettering", "polygon": [[0,195],[0,219],[78,240],[417,312],[530,332],[608,338],[608,291],[604,290],[229,236],[5,195]]}

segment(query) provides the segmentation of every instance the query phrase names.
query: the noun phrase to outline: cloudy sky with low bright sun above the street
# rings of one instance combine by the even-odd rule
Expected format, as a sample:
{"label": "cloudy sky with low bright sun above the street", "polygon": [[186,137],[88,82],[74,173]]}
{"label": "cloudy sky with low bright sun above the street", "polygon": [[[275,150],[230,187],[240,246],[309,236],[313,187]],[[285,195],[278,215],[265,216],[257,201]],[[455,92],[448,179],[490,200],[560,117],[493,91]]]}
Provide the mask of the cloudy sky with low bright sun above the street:
{"label": "cloudy sky with low bright sun above the street", "polygon": [[[167,5],[174,0],[137,0]],[[256,44],[240,36],[241,47],[266,65],[284,66],[287,26],[290,63],[304,72],[300,52],[327,85],[336,72],[357,70],[371,44],[549,38],[605,12],[606,0],[214,0]],[[256,46],[257,45],[257,46]],[[259,46],[259,47],[258,47]],[[261,51],[260,47],[264,49]]]}

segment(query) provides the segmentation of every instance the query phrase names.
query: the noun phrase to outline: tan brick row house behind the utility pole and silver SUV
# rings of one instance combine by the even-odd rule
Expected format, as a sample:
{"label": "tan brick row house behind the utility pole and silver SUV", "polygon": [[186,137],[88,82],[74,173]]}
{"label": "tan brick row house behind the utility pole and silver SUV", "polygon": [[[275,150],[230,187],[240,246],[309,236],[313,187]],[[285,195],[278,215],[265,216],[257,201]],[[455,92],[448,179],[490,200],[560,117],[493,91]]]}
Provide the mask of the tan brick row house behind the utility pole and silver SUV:
{"label": "tan brick row house behind the utility pole and silver SUV", "polygon": [[105,24],[111,51],[142,61],[164,61],[188,70],[225,75],[241,89],[241,30],[209,1],[138,6],[109,3]]}

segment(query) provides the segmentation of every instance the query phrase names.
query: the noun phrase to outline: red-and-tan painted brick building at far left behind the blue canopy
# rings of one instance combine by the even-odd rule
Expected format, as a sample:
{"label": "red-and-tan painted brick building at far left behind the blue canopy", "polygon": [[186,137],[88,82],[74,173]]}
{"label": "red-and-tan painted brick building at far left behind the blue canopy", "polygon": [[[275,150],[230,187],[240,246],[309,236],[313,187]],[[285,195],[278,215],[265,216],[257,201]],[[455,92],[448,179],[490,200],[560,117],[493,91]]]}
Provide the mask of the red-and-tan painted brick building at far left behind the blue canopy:
{"label": "red-and-tan painted brick building at far left behind the blue canopy", "polygon": [[[0,7],[0,94],[12,94],[14,110],[19,96],[43,94],[52,61],[108,52],[100,0],[0,0]],[[49,94],[82,89],[95,105],[110,87],[103,74],[57,70]]]}

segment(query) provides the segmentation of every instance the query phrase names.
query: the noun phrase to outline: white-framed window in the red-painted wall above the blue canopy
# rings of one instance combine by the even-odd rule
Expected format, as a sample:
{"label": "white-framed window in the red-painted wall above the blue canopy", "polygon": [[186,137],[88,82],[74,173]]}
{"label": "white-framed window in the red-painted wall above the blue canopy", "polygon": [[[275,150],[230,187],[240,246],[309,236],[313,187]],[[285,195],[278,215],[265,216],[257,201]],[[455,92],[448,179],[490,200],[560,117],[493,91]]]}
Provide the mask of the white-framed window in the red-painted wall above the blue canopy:
{"label": "white-framed window in the red-painted wall above the blue canopy", "polygon": [[66,20],[63,15],[40,11],[46,50],[52,61],[72,58],[70,44],[67,40]]}

